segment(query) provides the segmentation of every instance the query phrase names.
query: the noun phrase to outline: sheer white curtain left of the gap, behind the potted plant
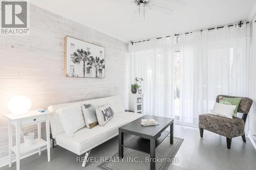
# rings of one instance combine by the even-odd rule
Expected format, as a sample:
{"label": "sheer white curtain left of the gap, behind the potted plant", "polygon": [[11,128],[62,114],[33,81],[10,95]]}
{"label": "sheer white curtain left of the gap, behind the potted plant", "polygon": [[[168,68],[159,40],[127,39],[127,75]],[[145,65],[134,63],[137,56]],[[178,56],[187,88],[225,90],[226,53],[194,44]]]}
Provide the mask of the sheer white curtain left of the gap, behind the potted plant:
{"label": "sheer white curtain left of the gap, behind the potted plant", "polygon": [[130,46],[131,83],[143,78],[144,113],[173,117],[174,39],[159,39]]}

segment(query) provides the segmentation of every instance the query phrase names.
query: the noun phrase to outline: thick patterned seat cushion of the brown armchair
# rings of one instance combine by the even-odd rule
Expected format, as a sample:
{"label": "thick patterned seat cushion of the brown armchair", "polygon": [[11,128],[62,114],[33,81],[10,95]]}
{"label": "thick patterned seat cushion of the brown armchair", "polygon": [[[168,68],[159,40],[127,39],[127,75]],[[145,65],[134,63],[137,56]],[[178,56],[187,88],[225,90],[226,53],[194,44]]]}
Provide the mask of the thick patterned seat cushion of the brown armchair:
{"label": "thick patterned seat cushion of the brown armchair", "polygon": [[244,134],[244,120],[233,117],[232,119],[212,114],[199,115],[199,128],[232,138]]}

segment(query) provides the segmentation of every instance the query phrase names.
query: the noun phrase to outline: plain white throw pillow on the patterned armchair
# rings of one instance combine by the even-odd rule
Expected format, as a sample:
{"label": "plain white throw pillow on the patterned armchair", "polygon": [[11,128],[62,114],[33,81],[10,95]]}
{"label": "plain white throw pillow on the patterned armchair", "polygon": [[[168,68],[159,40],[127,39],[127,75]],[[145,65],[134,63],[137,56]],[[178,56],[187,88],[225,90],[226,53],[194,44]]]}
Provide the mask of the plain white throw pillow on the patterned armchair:
{"label": "plain white throw pillow on the patterned armchair", "polygon": [[234,109],[236,109],[237,106],[234,105],[225,105],[221,103],[215,103],[214,108],[211,111],[210,114],[227,117],[227,118],[233,118]]}

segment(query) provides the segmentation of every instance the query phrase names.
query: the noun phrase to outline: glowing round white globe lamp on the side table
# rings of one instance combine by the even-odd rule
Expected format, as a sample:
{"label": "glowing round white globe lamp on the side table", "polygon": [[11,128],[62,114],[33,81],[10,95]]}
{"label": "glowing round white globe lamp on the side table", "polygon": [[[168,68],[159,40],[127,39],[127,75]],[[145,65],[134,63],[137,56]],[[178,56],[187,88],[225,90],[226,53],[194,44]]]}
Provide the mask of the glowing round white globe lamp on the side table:
{"label": "glowing round white globe lamp on the side table", "polygon": [[12,98],[8,103],[8,109],[13,114],[27,113],[31,108],[31,100],[24,95]]}

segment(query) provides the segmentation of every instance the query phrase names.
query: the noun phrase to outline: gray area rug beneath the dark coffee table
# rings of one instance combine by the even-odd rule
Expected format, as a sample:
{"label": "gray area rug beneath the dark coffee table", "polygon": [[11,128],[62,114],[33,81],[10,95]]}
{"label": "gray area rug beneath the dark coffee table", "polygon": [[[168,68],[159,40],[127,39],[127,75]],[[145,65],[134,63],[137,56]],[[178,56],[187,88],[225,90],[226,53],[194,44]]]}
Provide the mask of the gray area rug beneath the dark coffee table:
{"label": "gray area rug beneath the dark coffee table", "polygon": [[[175,158],[181,143],[184,139],[174,137],[174,144],[169,143],[169,137],[166,137],[156,149],[156,169],[166,170],[170,163],[178,161]],[[118,152],[105,160],[97,168],[102,170],[128,170],[128,169],[150,169],[150,155],[130,148],[124,147],[123,159],[118,158]]]}

